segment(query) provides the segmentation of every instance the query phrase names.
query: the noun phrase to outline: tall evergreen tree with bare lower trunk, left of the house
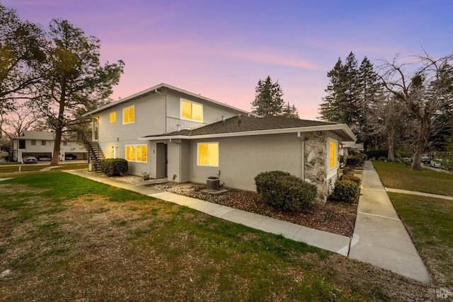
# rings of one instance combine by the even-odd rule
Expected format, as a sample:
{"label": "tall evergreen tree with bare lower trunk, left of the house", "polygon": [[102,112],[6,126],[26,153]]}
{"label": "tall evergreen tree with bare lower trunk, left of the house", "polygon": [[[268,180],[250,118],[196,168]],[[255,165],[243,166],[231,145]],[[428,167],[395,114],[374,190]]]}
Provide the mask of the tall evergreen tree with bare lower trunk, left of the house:
{"label": "tall evergreen tree with bare lower trunk, left of the house", "polygon": [[83,30],[66,20],[53,20],[48,35],[47,62],[34,102],[55,130],[51,163],[57,165],[62,132],[80,122],[77,113],[108,98],[112,86],[120,81],[124,63],[120,60],[101,66],[100,41],[86,37]]}

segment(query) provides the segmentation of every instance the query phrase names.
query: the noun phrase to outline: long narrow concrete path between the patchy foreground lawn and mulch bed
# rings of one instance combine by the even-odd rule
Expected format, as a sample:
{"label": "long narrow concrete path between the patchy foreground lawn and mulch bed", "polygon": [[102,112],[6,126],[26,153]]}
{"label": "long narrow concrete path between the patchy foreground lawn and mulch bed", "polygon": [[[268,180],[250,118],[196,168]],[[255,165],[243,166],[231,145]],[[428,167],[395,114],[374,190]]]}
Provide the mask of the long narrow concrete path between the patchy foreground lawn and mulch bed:
{"label": "long narrow concrete path between the patchy foreground lawn and mulch bed", "polygon": [[347,256],[349,252],[350,238],[347,236],[319,231],[314,228],[306,228],[305,226],[299,226],[298,224],[287,221],[281,221],[267,216],[233,209],[231,207],[225,207],[220,204],[213,204],[212,202],[205,202],[204,200],[191,197],[185,197],[171,192],[154,190],[153,188],[146,187],[142,184],[134,185],[133,183],[112,180],[101,175],[98,176],[93,173],[88,173],[86,171],[71,170],[65,172],[79,175],[83,178],[88,178],[97,182],[103,182],[107,185],[121,187],[126,190],[159,198],[167,202],[173,202],[185,207],[190,207],[191,209],[196,209],[197,211],[201,211],[202,213],[211,216],[216,216],[226,221],[241,223],[244,226],[250,226],[251,228],[256,228],[261,231],[282,235],[285,238],[302,241],[309,245],[316,246],[317,248],[336,252],[343,256]]}

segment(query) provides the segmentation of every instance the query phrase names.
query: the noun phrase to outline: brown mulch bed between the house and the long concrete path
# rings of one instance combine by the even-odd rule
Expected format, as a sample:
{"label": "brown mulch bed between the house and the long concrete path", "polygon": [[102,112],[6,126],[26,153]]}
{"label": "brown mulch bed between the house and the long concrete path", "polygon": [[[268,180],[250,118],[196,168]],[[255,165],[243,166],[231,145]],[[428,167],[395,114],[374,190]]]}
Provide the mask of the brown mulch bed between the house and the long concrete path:
{"label": "brown mulch bed between the house and the long concrete path", "polygon": [[260,201],[256,192],[228,189],[222,194],[210,194],[201,192],[204,185],[193,183],[166,182],[160,185],[148,185],[157,190],[165,190],[176,194],[206,200],[216,204],[222,204],[234,209],[241,209],[263,216],[289,221],[316,228],[317,230],[336,233],[338,235],[352,237],[354,233],[355,217],[357,216],[357,203],[332,202],[326,204],[314,204],[310,209],[299,213],[278,211]]}

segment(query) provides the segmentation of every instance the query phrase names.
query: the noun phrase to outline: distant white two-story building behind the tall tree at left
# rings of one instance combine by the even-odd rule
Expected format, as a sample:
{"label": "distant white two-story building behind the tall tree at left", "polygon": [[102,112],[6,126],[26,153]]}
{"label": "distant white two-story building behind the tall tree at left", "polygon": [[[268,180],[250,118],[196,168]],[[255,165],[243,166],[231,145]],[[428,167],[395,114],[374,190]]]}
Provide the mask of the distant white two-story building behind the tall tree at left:
{"label": "distant white two-story building behind the tall tree at left", "polygon": [[[24,131],[20,137],[13,138],[13,161],[21,161],[26,156],[52,158],[55,145],[54,132]],[[59,157],[61,161],[68,154],[74,154],[77,159],[88,159],[88,152],[81,141],[62,138]]]}

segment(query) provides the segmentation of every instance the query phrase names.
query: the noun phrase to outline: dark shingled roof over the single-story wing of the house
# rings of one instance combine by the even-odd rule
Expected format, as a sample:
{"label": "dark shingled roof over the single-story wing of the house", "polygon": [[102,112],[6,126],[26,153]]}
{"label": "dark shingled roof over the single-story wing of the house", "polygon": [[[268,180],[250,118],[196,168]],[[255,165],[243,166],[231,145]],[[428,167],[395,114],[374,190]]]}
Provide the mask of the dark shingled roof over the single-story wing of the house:
{"label": "dark shingled roof over the single-story wing of the house", "polygon": [[[190,138],[190,137],[199,137],[206,135],[215,135],[215,134],[235,134],[239,132],[246,132],[251,134],[251,132],[263,132],[265,130],[276,130],[276,129],[301,129],[301,128],[310,128],[310,127],[322,127],[327,126],[328,128],[342,129],[347,128],[344,124],[338,124],[334,122],[320,122],[313,120],[299,120],[294,118],[287,117],[250,117],[247,115],[237,115],[235,117],[230,117],[224,121],[214,122],[203,127],[196,129],[183,129],[176,132],[171,132],[161,135],[149,135],[143,137],[142,139],[149,138],[163,138],[163,137],[178,137],[178,138]],[[338,126],[338,127],[337,127]],[[349,130],[350,131],[350,130]],[[352,132],[350,132],[352,134]],[[253,135],[253,134],[251,134]],[[353,136],[354,134],[352,134]],[[344,137],[345,135],[341,135]],[[352,137],[350,137],[352,138]]]}

